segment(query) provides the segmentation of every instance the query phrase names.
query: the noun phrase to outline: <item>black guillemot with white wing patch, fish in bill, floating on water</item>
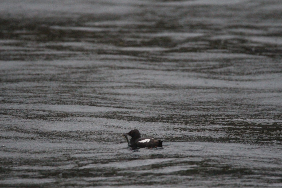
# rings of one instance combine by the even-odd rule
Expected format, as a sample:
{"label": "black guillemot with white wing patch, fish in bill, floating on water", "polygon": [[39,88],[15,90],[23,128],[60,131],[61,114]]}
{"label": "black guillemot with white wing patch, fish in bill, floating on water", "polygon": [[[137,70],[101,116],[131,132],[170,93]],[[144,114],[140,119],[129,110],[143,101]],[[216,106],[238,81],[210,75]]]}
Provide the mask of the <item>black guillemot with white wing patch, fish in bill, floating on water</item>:
{"label": "black guillemot with white wing patch, fish in bill, floating on water", "polygon": [[140,132],[137,129],[131,130],[123,134],[128,142],[127,136],[131,136],[128,143],[130,147],[162,147],[162,141],[154,138],[141,138]]}

